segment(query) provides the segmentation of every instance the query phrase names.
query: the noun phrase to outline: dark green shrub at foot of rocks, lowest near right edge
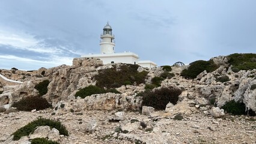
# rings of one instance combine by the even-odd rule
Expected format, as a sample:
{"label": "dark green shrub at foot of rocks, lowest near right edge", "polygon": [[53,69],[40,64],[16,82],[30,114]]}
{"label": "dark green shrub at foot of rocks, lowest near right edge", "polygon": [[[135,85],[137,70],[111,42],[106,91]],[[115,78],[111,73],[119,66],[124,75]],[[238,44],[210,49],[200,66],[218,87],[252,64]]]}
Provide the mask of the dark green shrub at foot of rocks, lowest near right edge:
{"label": "dark green shrub at foot of rocks, lowest near right edge", "polygon": [[227,113],[232,113],[233,115],[245,115],[245,104],[239,103],[234,100],[228,101],[224,106],[221,107]]}

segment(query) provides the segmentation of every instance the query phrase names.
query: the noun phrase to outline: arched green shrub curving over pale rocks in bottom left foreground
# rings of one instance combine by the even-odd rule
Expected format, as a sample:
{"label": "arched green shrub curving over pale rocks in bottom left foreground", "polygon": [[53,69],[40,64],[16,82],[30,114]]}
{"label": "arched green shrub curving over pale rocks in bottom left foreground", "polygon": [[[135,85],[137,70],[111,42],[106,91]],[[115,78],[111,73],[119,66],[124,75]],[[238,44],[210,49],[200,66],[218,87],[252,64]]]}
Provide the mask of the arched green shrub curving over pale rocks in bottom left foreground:
{"label": "arched green shrub curving over pale rocks in bottom left foreground", "polygon": [[61,124],[61,122],[54,121],[52,119],[38,118],[11,134],[13,135],[13,140],[19,140],[22,136],[28,136],[30,133],[34,133],[37,127],[43,125],[48,125],[50,128],[56,128],[59,131],[59,134],[69,136],[69,132],[67,131],[66,127]]}

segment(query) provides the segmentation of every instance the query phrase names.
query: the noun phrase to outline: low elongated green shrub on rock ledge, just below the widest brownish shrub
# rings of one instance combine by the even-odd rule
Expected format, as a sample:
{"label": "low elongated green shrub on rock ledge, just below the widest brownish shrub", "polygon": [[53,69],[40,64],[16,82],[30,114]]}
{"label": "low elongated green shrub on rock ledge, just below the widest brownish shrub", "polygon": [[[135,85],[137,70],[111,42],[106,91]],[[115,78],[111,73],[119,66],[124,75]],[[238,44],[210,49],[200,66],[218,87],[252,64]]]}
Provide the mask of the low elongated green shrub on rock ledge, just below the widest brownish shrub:
{"label": "low elongated green shrub on rock ledge, just below the widest brownish shrub", "polygon": [[121,92],[117,91],[117,89],[103,89],[100,88],[98,86],[87,86],[85,88],[80,89],[78,92],[76,92],[75,97],[81,97],[81,98],[85,98],[87,96],[93,95],[93,94],[104,94],[107,92],[112,92],[115,94],[121,94]]}

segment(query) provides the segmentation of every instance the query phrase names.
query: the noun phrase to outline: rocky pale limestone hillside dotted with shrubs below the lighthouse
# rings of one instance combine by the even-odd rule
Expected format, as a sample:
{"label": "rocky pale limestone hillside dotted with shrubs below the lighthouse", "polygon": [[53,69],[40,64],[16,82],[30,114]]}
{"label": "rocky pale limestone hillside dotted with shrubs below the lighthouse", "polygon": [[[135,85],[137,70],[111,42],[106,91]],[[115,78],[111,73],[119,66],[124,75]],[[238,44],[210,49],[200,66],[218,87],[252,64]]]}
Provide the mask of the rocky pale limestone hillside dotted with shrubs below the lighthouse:
{"label": "rocky pale limestone hillside dotted with shrubs below the lighthouse", "polygon": [[[70,136],[52,138],[60,143],[256,143],[255,59],[233,54],[149,70],[75,58],[72,66],[1,70],[23,83],[1,83],[0,106],[7,110],[0,116],[0,140],[15,143],[14,131],[43,116],[67,127]],[[11,107],[30,97],[45,98],[52,108]]]}

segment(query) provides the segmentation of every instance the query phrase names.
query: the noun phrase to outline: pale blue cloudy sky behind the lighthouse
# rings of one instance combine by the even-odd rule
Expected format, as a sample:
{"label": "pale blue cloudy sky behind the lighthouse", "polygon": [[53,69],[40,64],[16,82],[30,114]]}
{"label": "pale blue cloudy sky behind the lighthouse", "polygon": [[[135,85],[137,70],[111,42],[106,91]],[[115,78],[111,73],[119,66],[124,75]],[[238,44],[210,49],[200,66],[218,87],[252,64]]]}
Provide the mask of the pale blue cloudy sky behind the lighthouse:
{"label": "pale blue cloudy sky behind the lighthouse", "polygon": [[100,53],[109,22],[115,52],[160,65],[256,53],[255,0],[2,0],[0,69],[72,65]]}

